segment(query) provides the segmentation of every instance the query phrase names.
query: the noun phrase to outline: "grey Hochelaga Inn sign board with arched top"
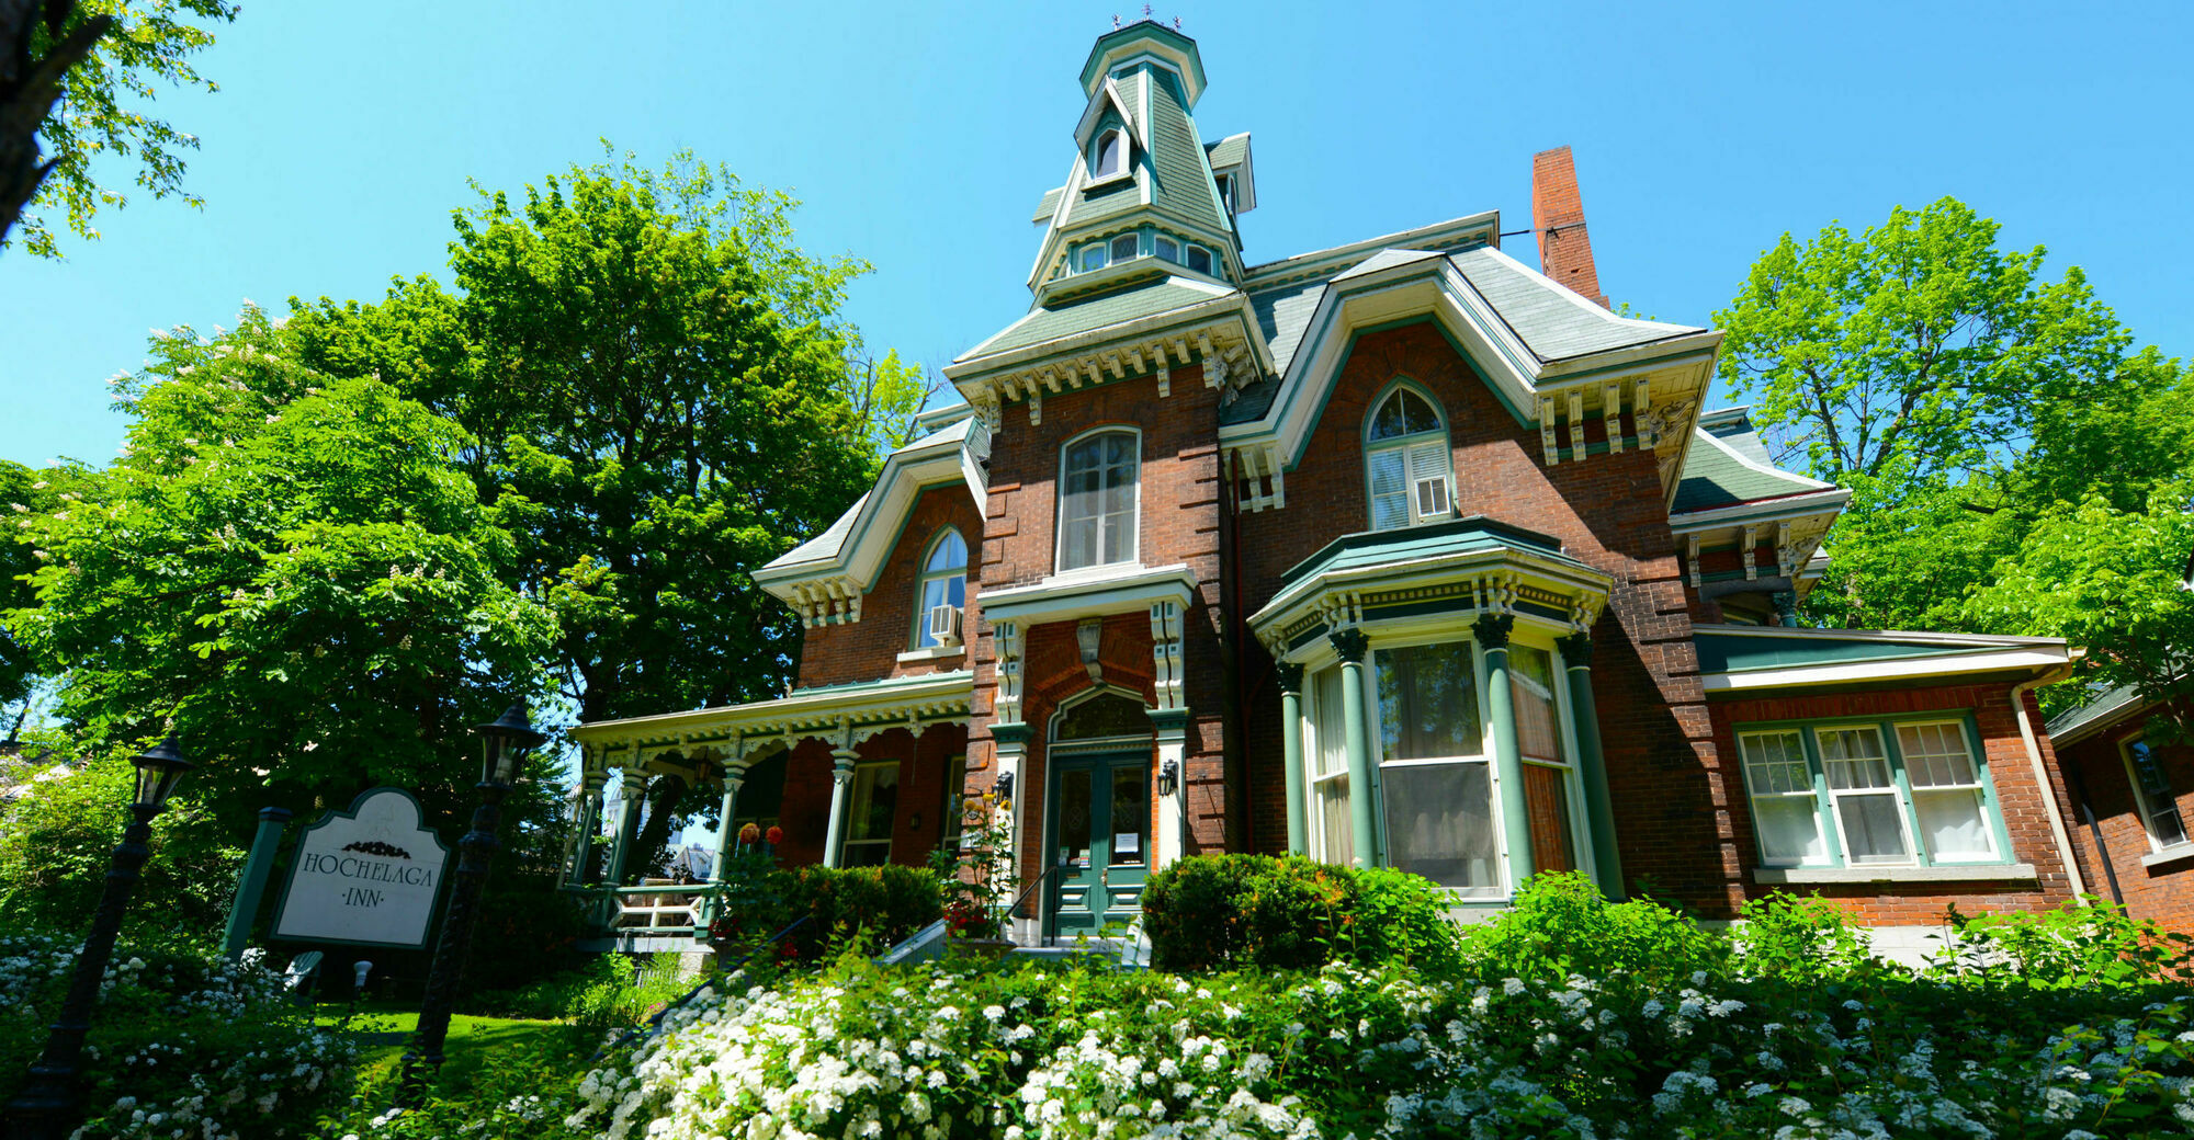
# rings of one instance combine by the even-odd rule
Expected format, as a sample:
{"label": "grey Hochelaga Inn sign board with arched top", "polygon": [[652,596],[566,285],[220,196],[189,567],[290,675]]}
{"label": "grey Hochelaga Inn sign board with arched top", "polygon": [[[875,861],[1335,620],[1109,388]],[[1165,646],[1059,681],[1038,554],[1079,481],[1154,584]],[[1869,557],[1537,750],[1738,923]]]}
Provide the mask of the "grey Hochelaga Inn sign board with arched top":
{"label": "grey Hochelaga Inn sign board with arched top", "polygon": [[375,787],[298,840],[272,936],[421,949],[448,866],[450,848],[423,827],[419,800]]}

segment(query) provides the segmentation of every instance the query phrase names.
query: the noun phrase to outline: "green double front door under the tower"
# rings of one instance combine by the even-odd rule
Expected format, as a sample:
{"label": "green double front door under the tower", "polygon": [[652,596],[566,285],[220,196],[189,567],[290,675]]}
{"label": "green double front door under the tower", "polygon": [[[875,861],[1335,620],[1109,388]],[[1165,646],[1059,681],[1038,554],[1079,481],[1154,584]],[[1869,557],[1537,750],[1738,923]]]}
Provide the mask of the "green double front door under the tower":
{"label": "green double front door under the tower", "polygon": [[1126,927],[1150,875],[1150,752],[1051,761],[1053,936]]}

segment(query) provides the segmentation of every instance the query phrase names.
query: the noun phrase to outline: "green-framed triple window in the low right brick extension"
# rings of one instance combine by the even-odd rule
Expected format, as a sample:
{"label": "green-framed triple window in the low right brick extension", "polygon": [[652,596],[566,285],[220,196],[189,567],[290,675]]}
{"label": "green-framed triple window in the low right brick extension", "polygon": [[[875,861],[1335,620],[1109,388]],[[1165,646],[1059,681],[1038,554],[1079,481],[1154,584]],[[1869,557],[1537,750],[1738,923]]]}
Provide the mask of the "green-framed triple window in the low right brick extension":
{"label": "green-framed triple window in the low right brick extension", "polygon": [[1738,732],[1762,866],[2005,862],[1986,765],[1964,719]]}

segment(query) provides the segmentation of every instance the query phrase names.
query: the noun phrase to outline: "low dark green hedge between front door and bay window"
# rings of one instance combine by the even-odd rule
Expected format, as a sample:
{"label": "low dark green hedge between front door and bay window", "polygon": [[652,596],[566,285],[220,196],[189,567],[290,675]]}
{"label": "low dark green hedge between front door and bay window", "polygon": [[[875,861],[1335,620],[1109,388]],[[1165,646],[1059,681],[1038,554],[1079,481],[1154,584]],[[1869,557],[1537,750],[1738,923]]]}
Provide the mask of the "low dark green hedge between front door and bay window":
{"label": "low dark green hedge between front door and bay window", "polygon": [[1143,888],[1158,969],[1446,967],[1459,949],[1448,901],[1402,870],[1270,855],[1176,859]]}

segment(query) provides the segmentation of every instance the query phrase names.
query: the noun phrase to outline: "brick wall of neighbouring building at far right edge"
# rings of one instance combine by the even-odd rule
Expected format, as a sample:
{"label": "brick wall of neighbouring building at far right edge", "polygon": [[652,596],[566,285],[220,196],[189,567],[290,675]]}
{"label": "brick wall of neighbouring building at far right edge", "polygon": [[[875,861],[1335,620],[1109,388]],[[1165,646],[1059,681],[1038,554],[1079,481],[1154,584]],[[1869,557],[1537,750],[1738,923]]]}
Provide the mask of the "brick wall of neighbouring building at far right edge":
{"label": "brick wall of neighbouring building at far right edge", "polygon": [[[2141,824],[2133,798],[2133,780],[2126,776],[2126,761],[2117,741],[2141,730],[2141,719],[2126,721],[2102,734],[2078,741],[2060,752],[2067,776],[2086,791],[2086,807],[2095,809],[2095,829],[2102,831],[2102,846],[2111,853],[2111,868],[2117,873],[2117,890],[2126,897],[2126,912],[2135,919],[2152,919],[2172,930],[2194,934],[2194,855],[2157,866],[2141,866],[2155,846]],[[2183,743],[2157,750],[2163,772],[2179,794],[2179,818],[2194,822],[2194,748]],[[2086,890],[2108,899],[2111,881],[2102,873],[2102,855],[2095,848],[2095,831],[2080,811],[2080,800],[2071,800],[2073,848],[2089,875]]]}

